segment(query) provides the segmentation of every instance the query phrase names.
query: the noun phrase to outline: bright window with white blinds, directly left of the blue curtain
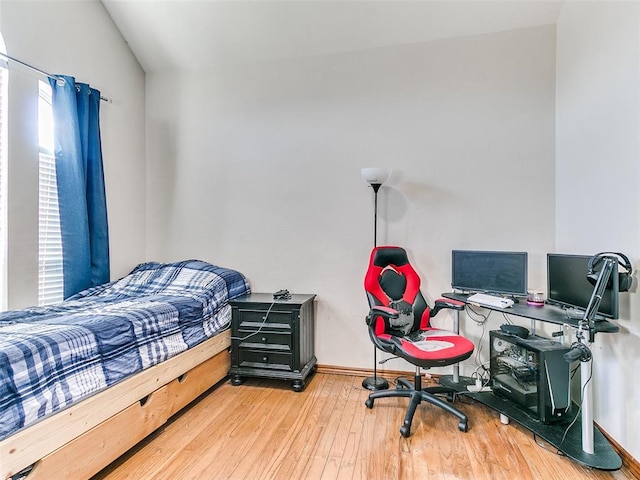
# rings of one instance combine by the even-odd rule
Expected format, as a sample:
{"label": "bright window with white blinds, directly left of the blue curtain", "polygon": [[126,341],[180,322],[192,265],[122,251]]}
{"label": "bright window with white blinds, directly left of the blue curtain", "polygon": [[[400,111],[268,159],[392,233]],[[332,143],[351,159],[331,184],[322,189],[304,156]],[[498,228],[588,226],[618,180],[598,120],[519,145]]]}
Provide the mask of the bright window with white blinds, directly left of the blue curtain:
{"label": "bright window with white blinds, directly left of the blue curtain", "polygon": [[53,146],[51,86],[39,82],[38,305],[63,299],[62,238]]}

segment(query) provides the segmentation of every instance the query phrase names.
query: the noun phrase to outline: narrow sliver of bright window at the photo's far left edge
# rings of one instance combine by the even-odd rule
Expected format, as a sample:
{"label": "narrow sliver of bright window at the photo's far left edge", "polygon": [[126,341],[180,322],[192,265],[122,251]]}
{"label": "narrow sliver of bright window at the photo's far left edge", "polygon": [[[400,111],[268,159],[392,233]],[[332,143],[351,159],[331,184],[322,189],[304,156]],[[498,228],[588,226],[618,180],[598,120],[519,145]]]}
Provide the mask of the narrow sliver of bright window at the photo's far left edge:
{"label": "narrow sliver of bright window at the photo's far left edge", "polygon": [[[0,52],[6,53],[0,34]],[[0,310],[7,309],[7,101],[9,72],[0,59]]]}

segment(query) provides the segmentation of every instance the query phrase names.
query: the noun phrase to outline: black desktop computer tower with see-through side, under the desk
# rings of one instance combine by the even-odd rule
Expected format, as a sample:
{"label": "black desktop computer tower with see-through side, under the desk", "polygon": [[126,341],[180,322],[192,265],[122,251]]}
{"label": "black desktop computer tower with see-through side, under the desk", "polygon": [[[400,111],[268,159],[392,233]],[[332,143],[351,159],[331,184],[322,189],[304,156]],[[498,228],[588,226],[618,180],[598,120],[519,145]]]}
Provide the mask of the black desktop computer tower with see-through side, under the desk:
{"label": "black desktop computer tower with see-through side, under the desk", "polygon": [[571,413],[569,347],[529,335],[520,338],[491,331],[491,389],[532,417],[552,423]]}

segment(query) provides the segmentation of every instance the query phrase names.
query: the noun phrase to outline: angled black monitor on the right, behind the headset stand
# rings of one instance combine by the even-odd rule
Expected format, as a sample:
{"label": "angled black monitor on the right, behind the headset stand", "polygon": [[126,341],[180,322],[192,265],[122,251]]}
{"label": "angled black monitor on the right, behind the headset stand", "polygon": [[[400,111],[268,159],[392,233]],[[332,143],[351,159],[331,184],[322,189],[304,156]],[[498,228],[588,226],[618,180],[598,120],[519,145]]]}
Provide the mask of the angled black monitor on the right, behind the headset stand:
{"label": "angled black monitor on the right, behind the headset stand", "polygon": [[[586,310],[594,286],[587,280],[590,255],[547,254],[547,303]],[[618,262],[613,266],[611,288],[605,290],[598,316],[618,318]]]}

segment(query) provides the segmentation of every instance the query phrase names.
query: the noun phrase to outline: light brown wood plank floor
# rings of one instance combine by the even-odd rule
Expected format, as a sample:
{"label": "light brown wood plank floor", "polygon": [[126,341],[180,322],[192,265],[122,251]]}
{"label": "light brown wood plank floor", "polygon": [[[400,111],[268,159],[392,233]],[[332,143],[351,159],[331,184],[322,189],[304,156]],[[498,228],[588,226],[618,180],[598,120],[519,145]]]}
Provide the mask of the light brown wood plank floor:
{"label": "light brown wood plank floor", "polygon": [[226,382],[93,480],[634,478],[585,468],[476,403],[456,402],[467,433],[452,415],[420,405],[405,439],[407,400],[368,409],[361,383],[317,373],[295,393],[287,382]]}

